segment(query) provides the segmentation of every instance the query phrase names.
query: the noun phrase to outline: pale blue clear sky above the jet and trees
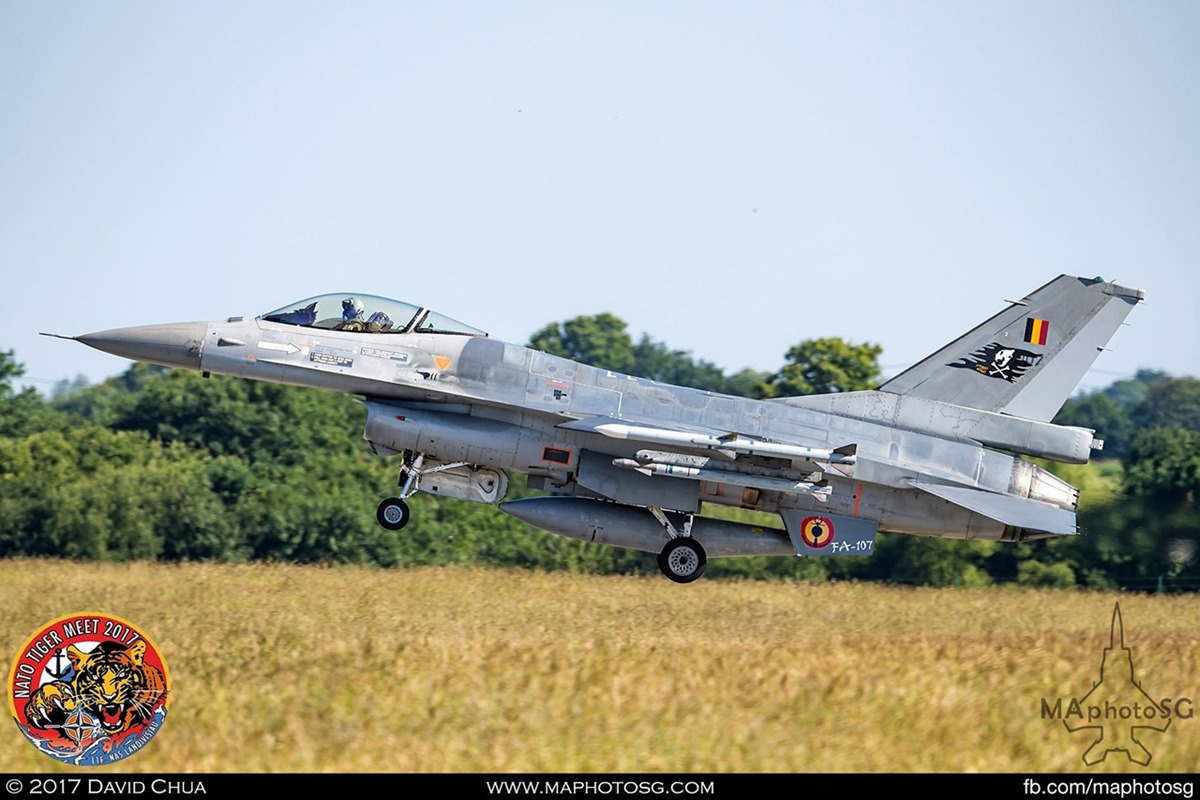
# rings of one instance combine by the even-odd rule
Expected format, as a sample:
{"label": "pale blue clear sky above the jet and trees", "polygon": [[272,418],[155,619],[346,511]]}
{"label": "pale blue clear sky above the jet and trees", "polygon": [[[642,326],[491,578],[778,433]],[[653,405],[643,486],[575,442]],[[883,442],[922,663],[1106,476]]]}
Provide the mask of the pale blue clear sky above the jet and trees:
{"label": "pale blue clear sky above the jet and trees", "polygon": [[1200,374],[1195,2],[0,4],[0,350],[392,296],[894,374],[1068,272]]}

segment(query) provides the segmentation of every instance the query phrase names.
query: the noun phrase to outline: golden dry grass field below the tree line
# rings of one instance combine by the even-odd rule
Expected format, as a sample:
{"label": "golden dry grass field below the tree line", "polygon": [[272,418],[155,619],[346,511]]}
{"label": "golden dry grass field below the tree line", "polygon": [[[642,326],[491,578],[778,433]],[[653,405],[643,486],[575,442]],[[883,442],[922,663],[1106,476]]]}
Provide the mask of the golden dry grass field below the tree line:
{"label": "golden dry grass field below the tree line", "polygon": [[[166,657],[166,724],[104,771],[1200,765],[1200,714],[1139,734],[1146,766],[1110,752],[1088,768],[1097,733],[1040,712],[1099,679],[1117,602],[1146,692],[1200,700],[1192,595],[50,560],[0,561],[0,593],[6,670],[82,610],[130,620]],[[2,735],[0,771],[68,769],[16,724]]]}

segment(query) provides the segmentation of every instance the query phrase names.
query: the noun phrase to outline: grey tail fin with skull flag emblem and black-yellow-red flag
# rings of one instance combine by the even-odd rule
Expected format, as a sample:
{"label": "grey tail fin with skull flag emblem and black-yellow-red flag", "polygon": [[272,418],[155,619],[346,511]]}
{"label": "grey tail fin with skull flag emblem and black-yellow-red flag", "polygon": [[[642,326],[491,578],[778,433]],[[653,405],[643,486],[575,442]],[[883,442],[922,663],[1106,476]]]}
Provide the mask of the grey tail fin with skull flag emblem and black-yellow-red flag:
{"label": "grey tail fin with skull flag emblem and black-yellow-red flag", "polygon": [[1060,275],[880,390],[1049,422],[1145,297]]}

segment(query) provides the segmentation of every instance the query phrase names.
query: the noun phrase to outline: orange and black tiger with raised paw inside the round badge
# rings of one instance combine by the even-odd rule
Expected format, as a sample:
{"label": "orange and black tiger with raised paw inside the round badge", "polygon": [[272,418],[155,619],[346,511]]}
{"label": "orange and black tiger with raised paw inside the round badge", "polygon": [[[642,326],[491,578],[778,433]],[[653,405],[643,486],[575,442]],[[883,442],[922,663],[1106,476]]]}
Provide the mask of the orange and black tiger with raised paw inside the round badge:
{"label": "orange and black tiger with raised paw inside the round badge", "polygon": [[35,728],[61,728],[72,712],[86,711],[109,734],[145,724],[167,692],[162,673],[145,663],[146,643],[126,646],[101,642],[91,652],[66,649],[73,675],[42,685],[25,704],[25,720]]}

